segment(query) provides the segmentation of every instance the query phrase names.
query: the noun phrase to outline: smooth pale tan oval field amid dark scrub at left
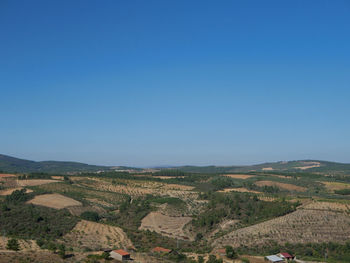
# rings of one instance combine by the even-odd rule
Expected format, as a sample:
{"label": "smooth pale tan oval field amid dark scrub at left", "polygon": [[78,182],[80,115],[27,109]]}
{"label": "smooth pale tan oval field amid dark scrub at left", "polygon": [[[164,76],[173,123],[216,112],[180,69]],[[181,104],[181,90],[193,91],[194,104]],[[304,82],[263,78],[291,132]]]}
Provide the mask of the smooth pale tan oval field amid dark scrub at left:
{"label": "smooth pale tan oval field amid dark scrub at left", "polygon": [[63,209],[70,206],[82,205],[79,201],[60,194],[37,195],[32,200],[28,201],[28,203],[55,209]]}

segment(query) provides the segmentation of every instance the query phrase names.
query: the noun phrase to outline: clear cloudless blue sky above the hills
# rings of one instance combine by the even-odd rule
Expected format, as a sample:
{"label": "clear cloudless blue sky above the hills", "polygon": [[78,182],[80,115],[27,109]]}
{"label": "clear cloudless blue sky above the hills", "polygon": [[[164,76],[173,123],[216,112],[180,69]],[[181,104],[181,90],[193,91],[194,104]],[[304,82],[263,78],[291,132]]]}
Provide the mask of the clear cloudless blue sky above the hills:
{"label": "clear cloudless blue sky above the hills", "polygon": [[350,1],[0,1],[0,153],[350,162]]}

